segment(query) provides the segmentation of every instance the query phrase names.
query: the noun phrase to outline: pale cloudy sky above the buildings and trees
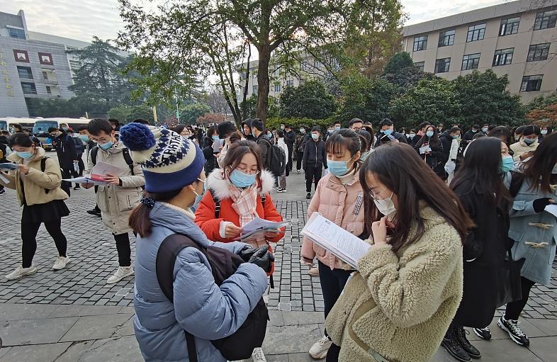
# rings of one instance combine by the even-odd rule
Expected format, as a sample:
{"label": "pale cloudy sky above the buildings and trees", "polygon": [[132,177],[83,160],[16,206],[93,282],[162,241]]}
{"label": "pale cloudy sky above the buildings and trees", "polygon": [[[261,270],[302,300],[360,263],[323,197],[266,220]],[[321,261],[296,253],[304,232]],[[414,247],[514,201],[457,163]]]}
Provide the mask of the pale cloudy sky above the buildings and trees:
{"label": "pale cloudy sky above the buildings and trees", "polygon": [[[139,0],[147,2],[147,0]],[[405,25],[463,11],[502,4],[505,0],[402,0],[408,19]],[[23,9],[31,31],[83,41],[114,39],[123,28],[116,0],[0,0],[0,11]]]}

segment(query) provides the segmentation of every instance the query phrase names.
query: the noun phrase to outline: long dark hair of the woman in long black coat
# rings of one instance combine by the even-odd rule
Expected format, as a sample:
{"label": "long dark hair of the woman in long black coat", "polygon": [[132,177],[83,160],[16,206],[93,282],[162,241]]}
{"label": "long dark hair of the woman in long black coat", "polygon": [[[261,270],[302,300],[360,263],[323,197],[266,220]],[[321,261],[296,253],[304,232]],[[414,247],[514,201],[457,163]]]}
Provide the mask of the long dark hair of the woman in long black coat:
{"label": "long dark hair of the woman in long black coat", "polygon": [[493,207],[500,200],[510,202],[510,193],[500,172],[501,142],[497,137],[483,137],[472,142],[466,149],[463,165],[451,182],[451,188],[456,190],[462,186],[465,192],[477,191]]}

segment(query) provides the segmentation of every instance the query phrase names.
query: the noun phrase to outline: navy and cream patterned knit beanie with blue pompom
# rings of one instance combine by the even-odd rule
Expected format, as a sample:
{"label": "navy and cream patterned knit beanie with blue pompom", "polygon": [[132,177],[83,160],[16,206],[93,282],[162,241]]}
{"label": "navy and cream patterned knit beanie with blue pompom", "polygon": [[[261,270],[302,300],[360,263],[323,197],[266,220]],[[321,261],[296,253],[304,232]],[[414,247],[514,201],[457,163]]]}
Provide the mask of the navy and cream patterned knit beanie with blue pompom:
{"label": "navy and cream patterned knit beanie with blue pompom", "polygon": [[119,140],[130,149],[133,161],[142,166],[149,193],[191,185],[205,164],[198,145],[166,128],[128,123],[120,128]]}

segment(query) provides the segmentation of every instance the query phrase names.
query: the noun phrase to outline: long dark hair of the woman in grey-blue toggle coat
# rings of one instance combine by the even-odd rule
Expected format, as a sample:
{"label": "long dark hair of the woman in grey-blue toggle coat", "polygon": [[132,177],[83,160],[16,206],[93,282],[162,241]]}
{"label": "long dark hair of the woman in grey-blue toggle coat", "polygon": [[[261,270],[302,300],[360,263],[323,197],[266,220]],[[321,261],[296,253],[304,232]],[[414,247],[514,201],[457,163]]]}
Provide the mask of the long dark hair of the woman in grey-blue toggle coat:
{"label": "long dark hair of the woman in grey-blue toggle coat", "polygon": [[530,183],[531,190],[551,192],[551,171],[557,163],[557,133],[544,137],[531,159],[524,162],[522,174]]}

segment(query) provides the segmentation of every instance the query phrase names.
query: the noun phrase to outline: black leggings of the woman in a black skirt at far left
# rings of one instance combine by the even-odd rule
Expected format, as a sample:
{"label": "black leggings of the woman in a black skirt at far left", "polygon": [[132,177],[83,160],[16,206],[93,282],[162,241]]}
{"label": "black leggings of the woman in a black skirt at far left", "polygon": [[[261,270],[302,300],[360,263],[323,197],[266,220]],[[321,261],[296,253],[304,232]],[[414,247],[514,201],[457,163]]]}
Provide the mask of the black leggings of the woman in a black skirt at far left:
{"label": "black leggings of the woman in a black skirt at far left", "polygon": [[[21,259],[23,268],[29,268],[33,263],[33,257],[35,256],[35,251],[37,251],[37,233],[39,231],[41,222],[22,222],[21,223]],[[58,255],[66,256],[67,249],[67,239],[62,232],[60,226],[62,225],[62,219],[56,221],[45,222],[45,227],[47,232],[50,234],[54,243],[56,244],[56,249],[58,249]]]}

